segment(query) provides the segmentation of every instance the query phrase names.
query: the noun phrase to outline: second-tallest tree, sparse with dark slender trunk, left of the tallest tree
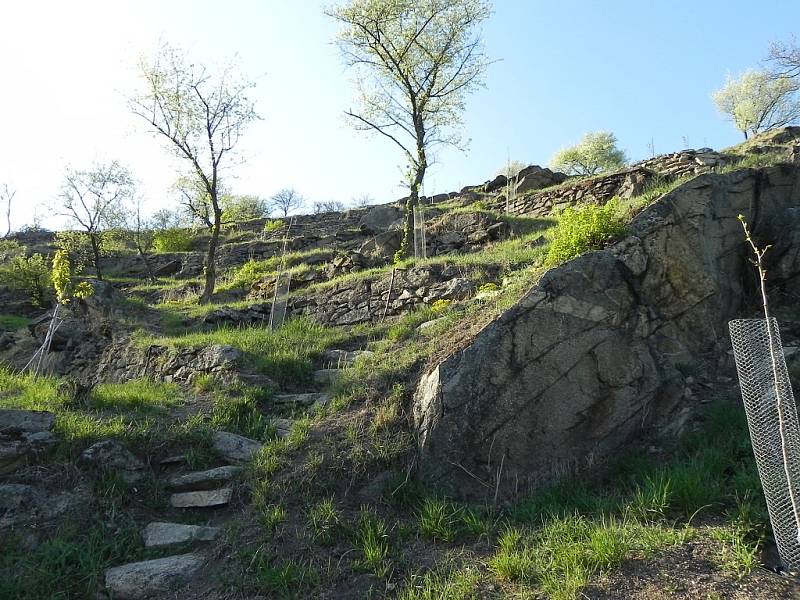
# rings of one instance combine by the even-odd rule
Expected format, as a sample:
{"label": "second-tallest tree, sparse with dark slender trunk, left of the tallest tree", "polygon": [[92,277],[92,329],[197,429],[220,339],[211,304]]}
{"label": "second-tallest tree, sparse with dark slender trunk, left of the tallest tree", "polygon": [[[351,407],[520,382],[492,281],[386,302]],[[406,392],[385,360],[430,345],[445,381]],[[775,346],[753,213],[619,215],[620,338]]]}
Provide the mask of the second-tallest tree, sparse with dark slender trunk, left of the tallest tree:
{"label": "second-tallest tree, sparse with dark slender trunk, left of the tallest tree", "polygon": [[[212,76],[189,63],[182,52],[164,46],[152,62],[142,60],[145,91],[131,100],[134,114],[167,141],[186,161],[195,189],[203,194],[197,215],[211,236],[205,259],[205,285],[200,303],[211,301],[216,285],[216,255],[222,228],[220,172],[248,124],[258,118],[247,93],[254,84],[241,81],[232,63]],[[196,199],[197,199],[196,198]],[[191,205],[189,205],[191,206]]]}

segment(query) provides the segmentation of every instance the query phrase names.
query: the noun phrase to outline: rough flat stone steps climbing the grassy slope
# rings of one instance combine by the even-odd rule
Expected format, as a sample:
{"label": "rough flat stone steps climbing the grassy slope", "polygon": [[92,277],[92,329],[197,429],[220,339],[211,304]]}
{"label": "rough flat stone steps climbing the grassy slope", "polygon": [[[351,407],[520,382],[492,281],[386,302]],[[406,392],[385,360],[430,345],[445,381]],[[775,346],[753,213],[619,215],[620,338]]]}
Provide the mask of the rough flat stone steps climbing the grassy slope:
{"label": "rough flat stone steps climbing the grassy slope", "polygon": [[[315,412],[330,400],[330,386],[366,351],[330,350],[322,359],[321,368],[314,372],[313,391],[277,394],[273,401],[280,414]],[[291,434],[294,421],[273,417],[278,437]],[[170,475],[166,487],[171,492],[169,504],[173,509],[206,514],[225,507],[233,497],[236,477],[263,446],[261,442],[228,431],[212,435],[214,451],[229,464],[204,471],[180,470],[182,457],[170,457],[162,465],[177,467]],[[184,551],[163,558],[144,560],[116,566],[106,570],[105,586],[111,596],[119,600],[136,600],[168,594],[191,582],[204,566],[207,555],[203,546],[215,541],[221,533],[219,526],[190,525],[171,521],[153,521],[142,530],[145,548]],[[185,551],[191,551],[186,553]]]}

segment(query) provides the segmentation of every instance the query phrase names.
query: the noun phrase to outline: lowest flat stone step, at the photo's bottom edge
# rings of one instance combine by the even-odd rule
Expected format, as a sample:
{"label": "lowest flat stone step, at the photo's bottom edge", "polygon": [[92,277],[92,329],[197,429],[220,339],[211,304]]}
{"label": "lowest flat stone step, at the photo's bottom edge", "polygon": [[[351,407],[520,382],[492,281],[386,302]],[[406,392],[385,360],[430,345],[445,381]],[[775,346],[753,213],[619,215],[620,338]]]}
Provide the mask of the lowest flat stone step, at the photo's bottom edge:
{"label": "lowest flat stone step, at the photo's bottom edge", "polygon": [[114,567],[106,571],[106,588],[115,600],[162,596],[191,581],[203,563],[201,554],[179,554]]}

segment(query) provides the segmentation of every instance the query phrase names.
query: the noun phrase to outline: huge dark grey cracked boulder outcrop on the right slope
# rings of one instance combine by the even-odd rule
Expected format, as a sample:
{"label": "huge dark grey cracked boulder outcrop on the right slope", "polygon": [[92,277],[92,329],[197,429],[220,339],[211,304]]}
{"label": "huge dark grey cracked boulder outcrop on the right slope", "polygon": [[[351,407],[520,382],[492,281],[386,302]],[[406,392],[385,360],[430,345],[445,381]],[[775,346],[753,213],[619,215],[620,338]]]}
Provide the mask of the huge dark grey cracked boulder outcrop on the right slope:
{"label": "huge dark grey cracked boulder outcrop on the right slope", "polygon": [[[776,242],[800,227],[800,168],[702,175],[639,214],[631,235],[548,271],[465,349],[430,369],[414,418],[424,477],[467,496],[535,488],[646,428],[674,433],[693,402],[677,368],[726,356],[752,290],[736,216]],[[796,286],[776,244],[773,286]],[[691,396],[689,396],[691,398]]]}

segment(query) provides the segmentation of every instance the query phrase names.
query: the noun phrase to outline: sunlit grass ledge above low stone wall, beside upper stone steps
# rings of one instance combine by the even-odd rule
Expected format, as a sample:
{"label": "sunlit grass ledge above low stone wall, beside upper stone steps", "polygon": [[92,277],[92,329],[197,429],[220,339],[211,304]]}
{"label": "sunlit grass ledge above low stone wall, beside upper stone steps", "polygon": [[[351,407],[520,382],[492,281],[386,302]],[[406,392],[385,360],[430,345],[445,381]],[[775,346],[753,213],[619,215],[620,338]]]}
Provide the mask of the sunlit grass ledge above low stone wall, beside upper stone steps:
{"label": "sunlit grass ledge above low stone wall, beside upper stone steps", "polygon": [[299,317],[290,319],[275,331],[261,326],[223,327],[174,336],[139,335],[136,342],[141,347],[152,344],[171,348],[203,348],[213,344],[234,346],[245,354],[245,366],[279,384],[299,384],[310,380],[313,360],[327,348],[342,342],[347,335],[341,329]]}

